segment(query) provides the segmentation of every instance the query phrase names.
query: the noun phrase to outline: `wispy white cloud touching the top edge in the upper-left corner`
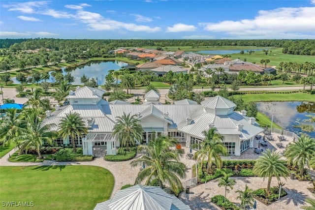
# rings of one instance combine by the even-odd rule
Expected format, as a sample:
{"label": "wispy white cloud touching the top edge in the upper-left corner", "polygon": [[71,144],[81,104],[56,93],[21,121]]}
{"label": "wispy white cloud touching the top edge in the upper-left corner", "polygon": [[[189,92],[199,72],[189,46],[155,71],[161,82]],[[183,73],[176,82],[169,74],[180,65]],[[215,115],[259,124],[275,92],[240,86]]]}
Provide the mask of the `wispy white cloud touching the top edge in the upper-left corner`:
{"label": "wispy white cloud touching the top edge in the upper-left corner", "polygon": [[9,8],[9,11],[19,11],[22,13],[36,13],[36,9],[46,6],[47,1],[28,1],[23,3],[4,4],[4,8]]}

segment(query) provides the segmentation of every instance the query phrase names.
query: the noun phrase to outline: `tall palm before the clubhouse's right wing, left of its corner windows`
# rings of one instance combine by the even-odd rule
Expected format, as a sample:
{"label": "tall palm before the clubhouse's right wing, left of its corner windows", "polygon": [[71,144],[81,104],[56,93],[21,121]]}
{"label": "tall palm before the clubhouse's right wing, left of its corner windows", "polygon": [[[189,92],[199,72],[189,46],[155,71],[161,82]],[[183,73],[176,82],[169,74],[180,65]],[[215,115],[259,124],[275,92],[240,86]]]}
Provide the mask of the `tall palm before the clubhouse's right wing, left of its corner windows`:
{"label": "tall palm before the clubhouse's right wing, left of its corner windows", "polygon": [[228,152],[222,144],[224,137],[220,133],[216,133],[216,128],[204,130],[202,133],[205,139],[200,144],[192,145],[192,148],[199,149],[195,152],[194,159],[203,162],[207,158],[207,173],[209,174],[212,164],[215,164],[217,168],[222,167],[220,154],[227,155]]}

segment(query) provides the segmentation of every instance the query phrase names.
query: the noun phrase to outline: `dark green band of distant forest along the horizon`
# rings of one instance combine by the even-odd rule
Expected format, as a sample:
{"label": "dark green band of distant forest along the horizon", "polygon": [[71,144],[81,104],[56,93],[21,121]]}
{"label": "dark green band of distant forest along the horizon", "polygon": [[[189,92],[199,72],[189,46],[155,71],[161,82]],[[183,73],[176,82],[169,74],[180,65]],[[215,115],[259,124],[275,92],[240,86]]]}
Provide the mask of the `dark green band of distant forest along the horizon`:
{"label": "dark green band of distant forest along the horizon", "polygon": [[282,47],[284,54],[315,56],[315,40],[309,39],[0,39],[0,48],[9,48],[11,52],[18,52],[21,50],[34,50],[39,48],[48,48],[54,50],[78,48],[83,51],[86,51],[88,49],[107,51],[118,47],[143,46],[191,46],[193,48],[198,48],[199,46]]}

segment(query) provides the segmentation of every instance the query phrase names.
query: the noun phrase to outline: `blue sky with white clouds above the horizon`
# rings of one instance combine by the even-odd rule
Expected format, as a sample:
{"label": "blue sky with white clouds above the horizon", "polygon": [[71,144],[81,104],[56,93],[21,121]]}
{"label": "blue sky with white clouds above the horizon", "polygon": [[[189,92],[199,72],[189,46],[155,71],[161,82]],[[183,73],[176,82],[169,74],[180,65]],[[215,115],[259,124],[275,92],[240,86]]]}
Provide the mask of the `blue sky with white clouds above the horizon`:
{"label": "blue sky with white clouds above the horizon", "polygon": [[315,39],[315,0],[1,0],[0,38]]}

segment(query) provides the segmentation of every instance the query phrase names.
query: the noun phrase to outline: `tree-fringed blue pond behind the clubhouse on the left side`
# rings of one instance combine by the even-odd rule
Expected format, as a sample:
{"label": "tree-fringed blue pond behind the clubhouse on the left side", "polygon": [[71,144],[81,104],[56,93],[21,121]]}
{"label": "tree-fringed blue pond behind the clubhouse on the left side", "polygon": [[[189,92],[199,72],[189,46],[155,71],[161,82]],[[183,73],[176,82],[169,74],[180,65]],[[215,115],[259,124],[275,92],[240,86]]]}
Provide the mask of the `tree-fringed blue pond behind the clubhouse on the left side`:
{"label": "tree-fringed blue pond behind the clubhouse on the left side", "polygon": [[[126,66],[128,63],[113,60],[113,61],[91,61],[89,63],[80,65],[80,66],[70,66],[70,67],[63,67],[61,68],[61,73],[63,75],[67,74],[68,72],[71,73],[72,76],[75,77],[73,85],[83,85],[80,82],[80,78],[83,74],[85,74],[88,78],[94,78],[98,81],[98,85],[104,85],[105,83],[105,76],[108,74],[109,70],[118,70],[123,66]],[[50,75],[51,72],[49,72]],[[11,78],[13,84],[19,84],[15,77]],[[41,82],[41,81],[40,81]],[[46,82],[53,82],[53,77],[51,76],[49,80]]]}

